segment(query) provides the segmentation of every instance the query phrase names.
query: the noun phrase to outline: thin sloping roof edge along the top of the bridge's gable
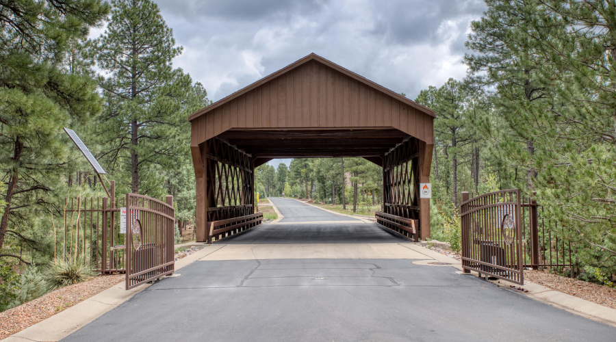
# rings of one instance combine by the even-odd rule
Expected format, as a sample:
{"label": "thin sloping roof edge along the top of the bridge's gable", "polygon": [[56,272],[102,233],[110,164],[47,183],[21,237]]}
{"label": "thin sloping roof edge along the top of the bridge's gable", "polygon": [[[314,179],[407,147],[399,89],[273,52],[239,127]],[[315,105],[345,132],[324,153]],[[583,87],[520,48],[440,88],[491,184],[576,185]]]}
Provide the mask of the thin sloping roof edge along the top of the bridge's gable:
{"label": "thin sloping roof edge along the top of the bridge's gable", "polygon": [[192,121],[200,116],[203,116],[204,114],[207,114],[208,112],[213,111],[214,109],[218,107],[221,107],[225,103],[229,103],[230,101],[233,101],[233,99],[238,98],[246,94],[247,92],[250,92],[251,90],[254,90],[255,88],[258,88],[259,86],[262,86],[265,83],[272,81],[273,79],[281,77],[282,75],[289,73],[291,70],[299,68],[300,66],[303,66],[304,64],[307,64],[311,61],[320,62],[321,64],[324,64],[325,66],[329,66],[329,68],[332,68],[333,70],[336,70],[339,73],[342,73],[352,79],[355,79],[356,81],[363,83],[365,86],[374,88],[374,90],[378,90],[380,92],[383,92],[384,94],[391,96],[392,98],[396,98],[396,100],[402,103],[405,103],[409,105],[410,107],[418,109],[419,111],[422,111],[424,114],[428,114],[429,116],[432,116],[433,118],[435,117],[435,112],[432,109],[429,109],[428,107],[424,107],[423,105],[420,105],[419,103],[416,103],[415,101],[411,101],[409,98],[406,98],[405,96],[402,96],[377,83],[374,83],[373,81],[370,81],[369,79],[366,79],[365,77],[357,75],[356,73],[353,73],[352,71],[346,68],[343,68],[342,66],[339,66],[338,64],[335,64],[329,60],[326,60],[325,58],[321,57],[320,55],[317,55],[316,53],[311,53],[307,55],[306,57],[303,57],[302,59],[298,60],[297,62],[289,64],[288,66],[285,66],[284,68],[278,70],[277,72],[272,73],[271,75],[268,75],[267,77],[264,77],[262,79],[259,79],[259,81],[252,83],[250,86],[247,86],[241,90],[238,90],[237,92],[234,92],[233,94],[225,98],[222,98],[216,101],[215,103],[212,103],[211,105],[207,107],[204,107],[203,109],[200,109],[194,112],[193,114],[188,116],[188,120]]}

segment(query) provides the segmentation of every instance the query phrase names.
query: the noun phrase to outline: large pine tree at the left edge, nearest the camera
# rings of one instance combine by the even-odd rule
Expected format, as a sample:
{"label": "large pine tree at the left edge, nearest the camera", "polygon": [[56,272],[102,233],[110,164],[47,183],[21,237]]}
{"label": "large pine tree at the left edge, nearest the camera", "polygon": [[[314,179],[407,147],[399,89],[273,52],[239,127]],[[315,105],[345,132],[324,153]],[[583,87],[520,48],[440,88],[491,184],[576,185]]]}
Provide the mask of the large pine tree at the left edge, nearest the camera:
{"label": "large pine tree at the left edge, nearest the camera", "polygon": [[[70,42],[100,25],[109,8],[98,0],[2,0],[0,8],[0,170],[7,185],[1,250],[6,234],[36,244],[24,230],[67,166],[62,127],[101,110],[96,83],[70,73],[65,57]],[[0,252],[5,256],[18,257]]]}

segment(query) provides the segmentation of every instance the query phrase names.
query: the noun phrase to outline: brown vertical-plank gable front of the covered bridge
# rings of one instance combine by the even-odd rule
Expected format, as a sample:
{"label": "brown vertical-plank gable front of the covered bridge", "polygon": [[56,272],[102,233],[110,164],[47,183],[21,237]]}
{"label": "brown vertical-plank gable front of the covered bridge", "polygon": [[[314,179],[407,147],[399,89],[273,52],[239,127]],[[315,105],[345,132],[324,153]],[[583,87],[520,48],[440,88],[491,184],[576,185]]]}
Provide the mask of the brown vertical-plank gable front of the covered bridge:
{"label": "brown vertical-plank gable front of the covered bridge", "polygon": [[192,114],[192,146],[229,129],[392,127],[433,144],[434,112],[311,54]]}

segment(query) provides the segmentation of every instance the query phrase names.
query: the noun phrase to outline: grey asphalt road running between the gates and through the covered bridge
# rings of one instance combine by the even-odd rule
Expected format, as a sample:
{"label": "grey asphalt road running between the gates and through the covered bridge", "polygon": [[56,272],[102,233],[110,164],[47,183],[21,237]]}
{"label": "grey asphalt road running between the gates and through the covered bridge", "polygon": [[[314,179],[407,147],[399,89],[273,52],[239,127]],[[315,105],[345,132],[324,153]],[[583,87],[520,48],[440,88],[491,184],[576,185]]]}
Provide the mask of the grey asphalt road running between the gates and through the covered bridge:
{"label": "grey asphalt road running between the gates and through the covered bridge", "polygon": [[[277,205],[287,213],[303,211],[283,201]],[[268,248],[255,242],[264,235],[254,233],[275,226],[216,248],[240,248],[229,245],[240,238]],[[337,248],[311,242],[342,240],[336,234],[309,236],[323,226],[281,224],[279,233],[298,228],[272,248]],[[328,229],[344,228],[336,226]],[[365,227],[362,241],[372,236],[378,241],[373,247],[408,246],[376,225],[348,226]],[[614,341],[616,328],[456,270],[413,259],[196,261],[62,341]]]}

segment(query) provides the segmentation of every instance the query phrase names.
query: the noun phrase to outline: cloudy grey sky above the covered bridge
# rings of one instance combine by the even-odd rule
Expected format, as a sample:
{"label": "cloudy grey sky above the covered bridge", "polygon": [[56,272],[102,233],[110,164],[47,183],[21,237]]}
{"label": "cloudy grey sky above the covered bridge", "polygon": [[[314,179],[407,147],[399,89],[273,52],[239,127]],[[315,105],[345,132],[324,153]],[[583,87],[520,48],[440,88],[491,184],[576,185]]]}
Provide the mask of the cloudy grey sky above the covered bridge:
{"label": "cloudy grey sky above the covered bridge", "polygon": [[174,66],[213,101],[312,52],[415,99],[465,76],[469,25],[485,10],[483,0],[155,2],[184,47]]}

